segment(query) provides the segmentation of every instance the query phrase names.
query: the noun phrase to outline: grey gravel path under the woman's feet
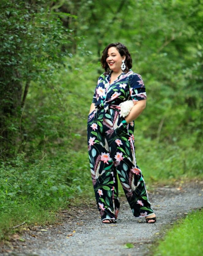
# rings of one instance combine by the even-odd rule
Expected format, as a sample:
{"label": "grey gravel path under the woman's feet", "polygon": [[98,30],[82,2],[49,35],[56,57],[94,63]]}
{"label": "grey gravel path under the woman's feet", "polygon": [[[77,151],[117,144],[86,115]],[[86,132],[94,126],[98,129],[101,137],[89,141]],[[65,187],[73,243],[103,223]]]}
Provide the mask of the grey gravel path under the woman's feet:
{"label": "grey gravel path under the woman's feet", "polygon": [[[13,235],[1,245],[0,255],[149,255],[150,246],[168,224],[203,206],[203,181],[181,186],[159,187],[148,193],[157,216],[155,224],[135,219],[125,198],[121,198],[117,223],[102,224],[93,202],[60,212],[57,225],[29,227]],[[134,248],[125,248],[127,243]]]}

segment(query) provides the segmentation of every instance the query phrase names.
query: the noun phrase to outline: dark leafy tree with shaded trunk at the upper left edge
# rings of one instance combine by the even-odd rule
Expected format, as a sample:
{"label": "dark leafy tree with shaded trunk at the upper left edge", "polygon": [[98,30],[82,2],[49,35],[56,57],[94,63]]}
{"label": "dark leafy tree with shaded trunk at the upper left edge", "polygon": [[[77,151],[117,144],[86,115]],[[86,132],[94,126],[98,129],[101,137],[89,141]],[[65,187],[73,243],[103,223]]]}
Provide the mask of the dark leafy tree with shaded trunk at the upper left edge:
{"label": "dark leafy tree with shaded trunk at the upper left edge", "polygon": [[[0,142],[3,156],[20,151],[21,116],[31,81],[44,83],[64,65],[72,32],[62,26],[51,1],[1,1]],[[20,132],[20,133],[19,133]],[[14,147],[12,147],[12,145]],[[4,153],[5,151],[5,153]]]}

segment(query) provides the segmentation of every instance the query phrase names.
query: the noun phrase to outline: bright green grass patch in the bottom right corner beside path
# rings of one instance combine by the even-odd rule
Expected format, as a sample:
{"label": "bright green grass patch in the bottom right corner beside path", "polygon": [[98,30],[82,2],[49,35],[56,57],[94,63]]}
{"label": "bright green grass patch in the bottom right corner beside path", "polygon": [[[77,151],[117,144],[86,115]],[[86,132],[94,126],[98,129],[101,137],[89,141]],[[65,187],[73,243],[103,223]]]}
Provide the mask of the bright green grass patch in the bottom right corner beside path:
{"label": "bright green grass patch in the bottom right corner beside path", "polygon": [[164,240],[156,247],[154,256],[189,256],[203,253],[203,211],[189,213],[167,232]]}

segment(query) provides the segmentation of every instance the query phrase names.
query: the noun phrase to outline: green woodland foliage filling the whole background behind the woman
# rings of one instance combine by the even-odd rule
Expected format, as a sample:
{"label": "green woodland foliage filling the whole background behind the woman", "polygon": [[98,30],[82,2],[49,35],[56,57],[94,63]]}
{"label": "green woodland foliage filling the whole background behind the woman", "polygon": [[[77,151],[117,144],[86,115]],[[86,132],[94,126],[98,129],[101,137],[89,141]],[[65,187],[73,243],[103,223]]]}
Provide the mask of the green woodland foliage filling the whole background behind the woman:
{"label": "green woodland foliage filling the whole background behind the woman", "polygon": [[86,123],[103,72],[98,56],[115,41],[128,47],[146,86],[134,133],[145,181],[202,178],[202,6],[1,1],[1,235],[94,197]]}

